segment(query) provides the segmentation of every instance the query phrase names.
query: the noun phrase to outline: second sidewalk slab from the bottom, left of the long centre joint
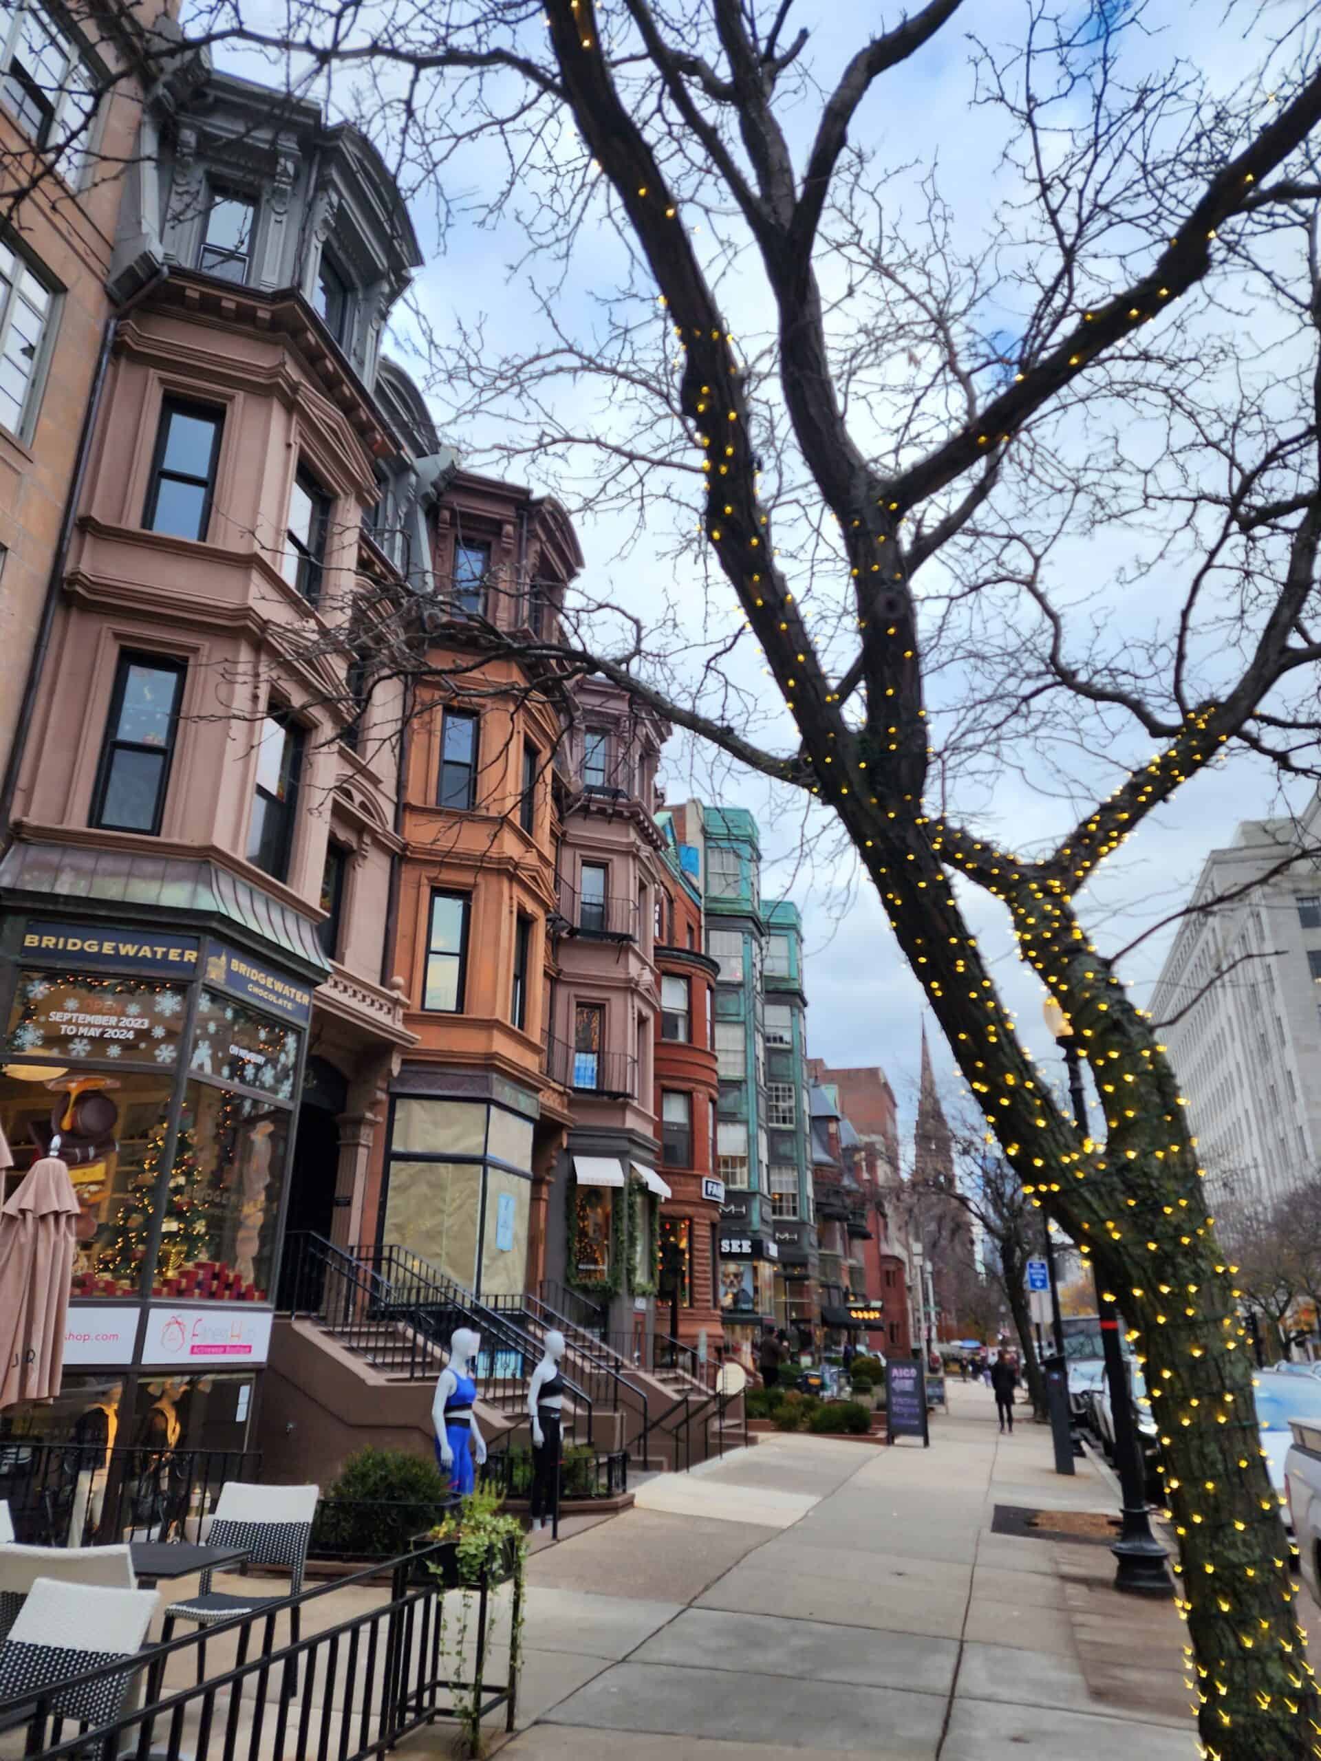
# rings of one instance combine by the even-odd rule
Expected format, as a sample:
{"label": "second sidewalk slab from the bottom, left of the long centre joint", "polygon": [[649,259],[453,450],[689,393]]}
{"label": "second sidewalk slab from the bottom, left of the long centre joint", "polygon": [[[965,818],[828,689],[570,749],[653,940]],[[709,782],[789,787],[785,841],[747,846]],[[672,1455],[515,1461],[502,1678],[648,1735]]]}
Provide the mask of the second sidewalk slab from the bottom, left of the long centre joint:
{"label": "second sidewalk slab from the bottom, left of the long centre joint", "polygon": [[877,1643],[865,1627],[690,1608],[646,1639],[632,1661],[948,1694],[958,1645],[912,1632],[888,1632]]}

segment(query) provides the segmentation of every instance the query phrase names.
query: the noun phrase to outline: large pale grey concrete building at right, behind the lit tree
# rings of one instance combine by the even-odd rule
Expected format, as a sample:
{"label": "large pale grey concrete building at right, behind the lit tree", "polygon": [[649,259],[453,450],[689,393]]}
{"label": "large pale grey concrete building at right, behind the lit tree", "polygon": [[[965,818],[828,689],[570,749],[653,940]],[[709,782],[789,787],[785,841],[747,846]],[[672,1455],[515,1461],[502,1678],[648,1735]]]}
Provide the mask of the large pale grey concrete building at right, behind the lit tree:
{"label": "large pale grey concrete building at right, behind the lit tree", "polygon": [[[1152,991],[1208,1203],[1273,1199],[1321,1166],[1321,798],[1212,851]],[[1217,903],[1224,900],[1224,903]]]}

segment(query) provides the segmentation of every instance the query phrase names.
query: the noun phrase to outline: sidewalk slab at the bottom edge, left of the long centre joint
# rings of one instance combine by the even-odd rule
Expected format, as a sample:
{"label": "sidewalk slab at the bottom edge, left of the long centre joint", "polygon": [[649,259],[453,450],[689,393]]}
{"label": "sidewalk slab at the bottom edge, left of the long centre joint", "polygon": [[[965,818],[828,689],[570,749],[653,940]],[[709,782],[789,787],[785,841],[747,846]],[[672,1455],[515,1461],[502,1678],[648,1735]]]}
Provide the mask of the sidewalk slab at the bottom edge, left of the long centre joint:
{"label": "sidewalk slab at the bottom edge, left of the long centre joint", "polygon": [[934,1761],[944,1712],[939,1694],[622,1662],[562,1701],[550,1722],[868,1756],[884,1740],[897,1757]]}

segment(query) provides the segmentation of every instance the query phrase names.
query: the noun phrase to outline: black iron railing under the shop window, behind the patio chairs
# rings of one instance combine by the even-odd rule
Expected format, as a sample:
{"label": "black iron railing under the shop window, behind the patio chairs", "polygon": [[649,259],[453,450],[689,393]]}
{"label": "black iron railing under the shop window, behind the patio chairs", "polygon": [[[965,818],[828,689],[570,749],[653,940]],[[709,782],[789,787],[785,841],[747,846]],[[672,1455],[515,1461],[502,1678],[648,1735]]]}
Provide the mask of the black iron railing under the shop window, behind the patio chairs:
{"label": "black iron railing under the shop window, behind the patio chairs", "polygon": [[259,1449],[0,1442],[0,1499],[28,1546],[196,1541],[224,1483],[259,1476]]}

